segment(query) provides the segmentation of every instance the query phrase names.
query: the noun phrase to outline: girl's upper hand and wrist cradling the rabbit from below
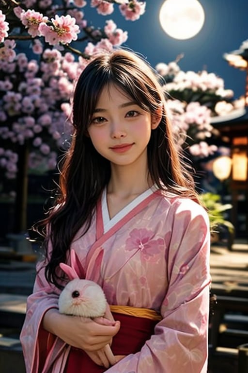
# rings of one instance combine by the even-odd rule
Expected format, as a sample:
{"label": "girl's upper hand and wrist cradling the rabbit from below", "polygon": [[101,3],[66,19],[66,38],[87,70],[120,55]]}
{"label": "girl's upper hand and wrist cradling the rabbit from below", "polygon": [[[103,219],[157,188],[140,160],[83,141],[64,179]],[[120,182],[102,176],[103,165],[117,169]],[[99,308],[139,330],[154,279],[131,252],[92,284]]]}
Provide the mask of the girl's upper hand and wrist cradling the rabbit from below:
{"label": "girl's upper hand and wrist cradling the rabbit from below", "polygon": [[93,352],[104,349],[111,343],[112,337],[120,329],[120,322],[102,325],[88,318],[63,315],[57,309],[51,308],[44,315],[43,327],[65,343]]}

